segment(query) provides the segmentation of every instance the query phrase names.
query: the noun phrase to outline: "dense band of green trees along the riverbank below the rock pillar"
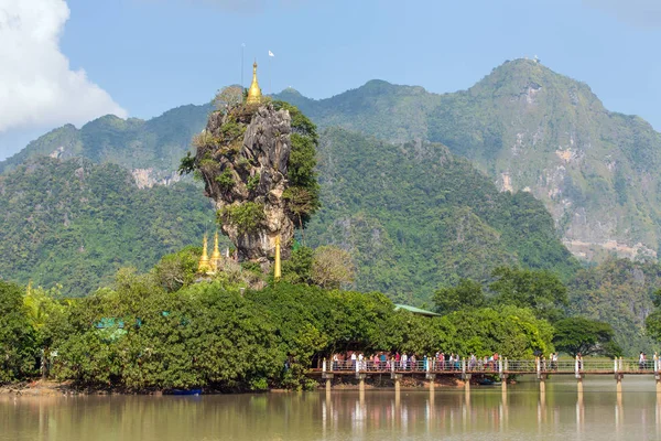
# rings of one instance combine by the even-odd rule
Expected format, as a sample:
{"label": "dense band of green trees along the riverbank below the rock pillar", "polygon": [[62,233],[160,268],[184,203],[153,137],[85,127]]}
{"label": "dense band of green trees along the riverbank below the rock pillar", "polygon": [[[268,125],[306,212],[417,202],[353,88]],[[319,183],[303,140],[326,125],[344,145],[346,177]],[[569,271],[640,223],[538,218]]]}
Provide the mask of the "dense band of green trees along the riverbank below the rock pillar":
{"label": "dense band of green trees along the riverbank below the rock pillar", "polygon": [[305,373],[335,353],[520,359],[572,337],[554,345],[566,290],[546,271],[501,268],[487,290],[460,283],[456,290],[473,295],[454,295],[452,305],[444,302],[456,292],[445,288],[436,295],[442,315],[429,318],[395,310],[379,292],[294,277],[310,271],[300,263],[283,266],[283,280],[299,283],[261,290],[246,289],[245,273],[196,280],[198,251],[166,256],[148,273],[121,269],[110,287],[80,299],[0,281],[0,383],[47,375],[123,391],[306,389],[315,381]]}

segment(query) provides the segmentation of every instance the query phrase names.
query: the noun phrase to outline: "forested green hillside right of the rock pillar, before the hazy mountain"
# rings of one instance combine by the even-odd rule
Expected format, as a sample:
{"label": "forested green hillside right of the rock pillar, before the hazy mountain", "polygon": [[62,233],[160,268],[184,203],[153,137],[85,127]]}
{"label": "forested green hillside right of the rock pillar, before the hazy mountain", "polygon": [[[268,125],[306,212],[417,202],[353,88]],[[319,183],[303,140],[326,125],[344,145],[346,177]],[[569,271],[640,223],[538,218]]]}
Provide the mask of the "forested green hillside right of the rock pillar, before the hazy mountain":
{"label": "forested green hillside right of the rock pillar, before the hazy mountain", "polygon": [[360,290],[419,303],[442,283],[486,281],[500,265],[565,279],[578,267],[542,203],[498,192],[444,146],[395,146],[328,129],[318,166],[322,209],[307,240],[351,250]]}

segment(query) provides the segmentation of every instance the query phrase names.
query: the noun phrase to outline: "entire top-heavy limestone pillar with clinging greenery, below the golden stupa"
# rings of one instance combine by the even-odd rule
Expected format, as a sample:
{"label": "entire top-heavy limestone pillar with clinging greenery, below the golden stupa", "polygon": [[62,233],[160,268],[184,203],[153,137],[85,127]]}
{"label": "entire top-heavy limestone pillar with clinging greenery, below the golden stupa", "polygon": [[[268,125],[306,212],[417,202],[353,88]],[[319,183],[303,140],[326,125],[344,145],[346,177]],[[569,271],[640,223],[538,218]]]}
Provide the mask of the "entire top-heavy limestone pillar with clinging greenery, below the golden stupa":
{"label": "entire top-heavy limestone pillar with clinging greenery, below the golden stupa", "polygon": [[315,126],[285,103],[245,104],[225,89],[182,173],[198,173],[240,260],[264,262],[319,206]]}

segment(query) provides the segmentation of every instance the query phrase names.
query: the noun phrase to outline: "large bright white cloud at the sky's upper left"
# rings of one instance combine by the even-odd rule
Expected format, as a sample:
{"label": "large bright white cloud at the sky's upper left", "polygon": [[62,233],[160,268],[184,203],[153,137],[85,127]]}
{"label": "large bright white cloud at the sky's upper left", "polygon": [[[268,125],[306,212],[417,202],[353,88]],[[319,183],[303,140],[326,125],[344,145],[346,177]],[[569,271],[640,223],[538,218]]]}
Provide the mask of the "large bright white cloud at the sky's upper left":
{"label": "large bright white cloud at the sky's upper left", "polygon": [[0,0],[0,132],[127,112],[59,51],[64,0]]}

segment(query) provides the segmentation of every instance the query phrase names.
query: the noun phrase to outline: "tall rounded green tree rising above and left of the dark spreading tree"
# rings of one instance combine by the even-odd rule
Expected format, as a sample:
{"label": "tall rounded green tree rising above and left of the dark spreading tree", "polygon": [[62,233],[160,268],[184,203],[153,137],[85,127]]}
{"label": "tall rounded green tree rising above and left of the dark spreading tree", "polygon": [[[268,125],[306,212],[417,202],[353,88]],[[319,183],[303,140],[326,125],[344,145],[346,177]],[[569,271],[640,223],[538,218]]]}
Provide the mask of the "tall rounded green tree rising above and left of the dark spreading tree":
{"label": "tall rounded green tree rising above and left of the dark spreading tree", "polygon": [[560,278],[548,270],[498,267],[489,289],[497,297],[497,304],[531,308],[540,319],[551,321],[562,316],[561,308],[567,304],[567,288]]}

